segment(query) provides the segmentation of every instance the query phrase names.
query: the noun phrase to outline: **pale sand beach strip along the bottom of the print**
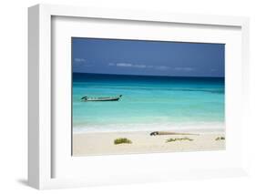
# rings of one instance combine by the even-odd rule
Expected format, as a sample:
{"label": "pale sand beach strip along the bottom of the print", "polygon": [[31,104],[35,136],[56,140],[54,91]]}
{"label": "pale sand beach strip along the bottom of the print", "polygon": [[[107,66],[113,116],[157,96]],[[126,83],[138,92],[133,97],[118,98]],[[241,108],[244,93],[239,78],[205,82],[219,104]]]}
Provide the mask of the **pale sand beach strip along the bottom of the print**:
{"label": "pale sand beach strip along the bottom of the print", "polygon": [[[150,132],[104,132],[73,134],[73,156],[109,154],[136,154],[152,152],[201,151],[225,149],[224,133],[197,133],[198,135],[150,136]],[[128,138],[131,144],[114,144],[116,138]],[[190,138],[166,142],[169,138]]]}

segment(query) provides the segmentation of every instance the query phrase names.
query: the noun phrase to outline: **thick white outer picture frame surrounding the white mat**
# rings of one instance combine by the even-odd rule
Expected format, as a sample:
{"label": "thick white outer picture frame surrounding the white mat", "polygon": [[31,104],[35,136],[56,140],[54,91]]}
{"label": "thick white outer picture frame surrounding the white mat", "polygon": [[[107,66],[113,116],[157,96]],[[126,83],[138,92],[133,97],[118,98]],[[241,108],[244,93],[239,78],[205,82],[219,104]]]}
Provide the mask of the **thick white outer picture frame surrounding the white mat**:
{"label": "thick white outer picture frame surrounding the white mat", "polygon": [[[90,185],[104,185],[130,182],[150,182],[162,181],[169,179],[195,179],[195,178],[211,178],[211,177],[230,177],[246,175],[247,158],[246,147],[241,147],[244,143],[243,139],[238,146],[241,147],[239,155],[241,162],[226,166],[216,166],[212,168],[191,168],[190,170],[163,171],[152,170],[147,171],[148,167],[144,168],[144,172],[139,172],[136,178],[128,175],[126,178],[121,178],[120,174],[112,174],[113,179],[109,179],[109,174],[80,178],[79,176],[55,177],[54,168],[57,163],[54,161],[57,149],[54,149],[55,139],[51,130],[53,121],[52,113],[52,80],[55,75],[52,73],[52,26],[53,17],[72,17],[72,18],[93,18],[93,19],[108,19],[119,21],[130,21],[142,23],[158,24],[182,24],[189,26],[206,26],[211,27],[235,27],[240,28],[241,32],[241,62],[239,66],[241,74],[241,101],[247,102],[249,97],[249,19],[246,17],[233,16],[217,16],[217,15],[183,15],[169,13],[147,13],[129,10],[112,10],[100,8],[87,8],[67,5],[35,5],[28,9],[28,51],[29,51],[29,94],[28,94],[28,183],[36,189],[54,189],[68,187],[83,187]],[[246,128],[246,116],[248,114],[248,105],[241,105],[241,130],[237,134],[243,134]],[[65,138],[62,139],[65,141]],[[186,153],[185,153],[186,154]],[[190,153],[187,153],[190,154]],[[225,153],[224,153],[225,154]],[[213,156],[210,153],[208,156]],[[221,153],[223,155],[223,153]],[[156,155],[159,158],[166,158],[167,154]],[[200,156],[199,156],[200,157]],[[113,158],[113,157],[112,157]],[[133,158],[147,160],[150,158],[147,155],[122,156],[122,158]],[[98,162],[100,157],[95,158],[93,162]],[[116,158],[114,158],[116,159]],[[111,158],[108,158],[109,161]],[[90,164],[93,164],[90,161]],[[158,163],[159,160],[156,160]],[[68,162],[67,162],[68,163]],[[65,165],[67,165],[64,162]],[[70,163],[69,163],[70,164]],[[74,163],[75,164],[75,163]],[[73,165],[74,165],[73,164]],[[76,163],[78,164],[78,163]],[[72,165],[72,164],[71,164]],[[158,165],[158,164],[157,164]],[[146,165],[147,166],[147,165]],[[66,166],[66,168],[71,168]],[[65,170],[62,168],[62,170]],[[148,168],[149,170],[149,168]],[[172,169],[171,169],[172,170]],[[63,174],[70,173],[63,171]],[[92,174],[92,172],[90,172]],[[116,176],[116,177],[115,177]]]}

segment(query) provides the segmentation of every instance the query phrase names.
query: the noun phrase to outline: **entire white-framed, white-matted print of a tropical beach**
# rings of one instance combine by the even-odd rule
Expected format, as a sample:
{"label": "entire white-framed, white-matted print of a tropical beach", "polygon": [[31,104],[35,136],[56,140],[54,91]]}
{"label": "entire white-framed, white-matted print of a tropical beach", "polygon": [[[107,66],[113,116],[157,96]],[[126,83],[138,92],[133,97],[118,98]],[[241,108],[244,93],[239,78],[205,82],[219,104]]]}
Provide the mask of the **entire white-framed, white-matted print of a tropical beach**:
{"label": "entire white-framed, white-matted print of a tropical beach", "polygon": [[248,26],[245,17],[30,7],[29,185],[245,175]]}

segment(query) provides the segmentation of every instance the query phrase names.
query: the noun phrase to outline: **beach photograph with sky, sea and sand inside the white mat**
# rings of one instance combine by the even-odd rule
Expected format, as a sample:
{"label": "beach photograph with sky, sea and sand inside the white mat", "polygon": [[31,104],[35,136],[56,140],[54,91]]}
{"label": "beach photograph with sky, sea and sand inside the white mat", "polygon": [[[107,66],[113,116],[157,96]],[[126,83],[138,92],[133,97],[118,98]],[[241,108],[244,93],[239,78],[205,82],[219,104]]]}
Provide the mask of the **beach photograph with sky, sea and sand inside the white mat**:
{"label": "beach photograph with sky, sea and sand inside the white mat", "polygon": [[72,37],[72,156],[225,149],[225,45]]}

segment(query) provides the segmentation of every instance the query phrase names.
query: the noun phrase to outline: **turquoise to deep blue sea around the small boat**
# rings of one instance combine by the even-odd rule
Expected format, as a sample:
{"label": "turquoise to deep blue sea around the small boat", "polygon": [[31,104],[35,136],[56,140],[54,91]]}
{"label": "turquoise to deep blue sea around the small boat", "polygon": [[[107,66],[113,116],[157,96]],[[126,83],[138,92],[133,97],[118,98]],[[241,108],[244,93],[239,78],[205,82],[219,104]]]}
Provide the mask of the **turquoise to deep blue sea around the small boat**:
{"label": "turquoise to deep blue sea around the small boat", "polygon": [[[82,102],[81,97],[119,101]],[[224,78],[73,73],[73,132],[224,131]]]}

